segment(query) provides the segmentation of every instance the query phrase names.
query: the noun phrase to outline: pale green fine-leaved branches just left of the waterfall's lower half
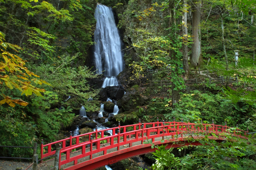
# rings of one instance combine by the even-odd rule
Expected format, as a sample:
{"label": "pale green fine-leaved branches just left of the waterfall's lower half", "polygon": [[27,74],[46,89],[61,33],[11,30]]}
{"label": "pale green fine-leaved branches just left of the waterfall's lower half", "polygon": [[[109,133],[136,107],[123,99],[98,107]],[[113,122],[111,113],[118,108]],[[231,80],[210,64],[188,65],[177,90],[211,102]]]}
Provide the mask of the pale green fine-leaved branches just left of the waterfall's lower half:
{"label": "pale green fine-leaved branches just left of the waterfall's lower half", "polygon": [[94,75],[86,66],[70,67],[77,57],[78,55],[63,55],[55,58],[54,64],[33,65],[33,67],[39,75],[52,84],[53,88],[46,88],[48,91],[54,90],[63,100],[66,96],[72,96],[66,103],[59,101],[62,105],[72,105],[73,108],[78,109],[82,104],[88,111],[95,111],[98,103],[87,102],[87,100],[88,98],[96,99],[99,90],[92,89],[88,85],[88,79],[95,78],[97,75]]}

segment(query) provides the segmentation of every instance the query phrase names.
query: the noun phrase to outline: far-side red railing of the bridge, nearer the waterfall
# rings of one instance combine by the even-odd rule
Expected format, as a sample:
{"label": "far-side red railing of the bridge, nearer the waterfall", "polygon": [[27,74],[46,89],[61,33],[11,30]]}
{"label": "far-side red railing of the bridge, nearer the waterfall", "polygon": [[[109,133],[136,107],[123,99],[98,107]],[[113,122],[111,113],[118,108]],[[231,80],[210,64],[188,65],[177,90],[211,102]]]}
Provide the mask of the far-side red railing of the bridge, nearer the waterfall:
{"label": "far-side red railing of the bridge, nearer the waterfall", "polygon": [[[181,124],[181,122],[166,122],[168,124]],[[89,141],[91,135],[93,135],[96,139],[97,138],[103,138],[104,134],[108,134],[109,131],[112,132],[112,134],[115,134],[117,132],[117,129],[119,128],[121,130],[121,132],[126,132],[126,131],[134,131],[136,129],[141,129],[141,123],[139,121],[138,124],[134,124],[134,125],[126,125],[126,126],[120,126],[120,124],[117,127],[112,127],[112,128],[108,128],[108,129],[102,129],[102,130],[98,130],[96,128],[96,130],[94,132],[89,132],[86,134],[81,134],[81,135],[76,135],[76,136],[72,136],[72,134],[70,133],[70,136],[68,138],[62,139],[62,140],[58,140],[49,144],[43,144],[43,139],[41,140],[41,159],[52,156],[55,154],[55,149],[56,147],[58,147],[59,144],[62,145],[61,150],[63,149],[67,149],[67,148],[71,148],[72,146],[76,146],[76,145],[80,145],[80,144],[84,144],[87,143],[87,141]],[[145,127],[155,127],[155,126],[161,126],[163,125],[163,122],[153,122],[153,123],[145,123],[144,124]],[[131,134],[132,135],[132,134]],[[107,142],[110,142],[110,139],[107,139]],[[42,162],[42,161],[41,161]]]}

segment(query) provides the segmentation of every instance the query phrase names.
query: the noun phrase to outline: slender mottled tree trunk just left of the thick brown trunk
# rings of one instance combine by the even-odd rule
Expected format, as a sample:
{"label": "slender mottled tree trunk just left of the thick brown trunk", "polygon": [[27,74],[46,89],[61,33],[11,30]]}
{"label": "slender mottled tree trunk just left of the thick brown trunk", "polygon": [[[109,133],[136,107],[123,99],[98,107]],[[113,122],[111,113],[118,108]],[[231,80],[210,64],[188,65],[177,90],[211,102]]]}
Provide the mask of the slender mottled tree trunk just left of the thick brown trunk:
{"label": "slender mottled tree trunk just left of the thick brown trunk", "polygon": [[183,0],[183,15],[182,15],[182,55],[183,55],[183,69],[185,71],[185,78],[189,75],[188,63],[188,27],[187,27],[187,0]]}

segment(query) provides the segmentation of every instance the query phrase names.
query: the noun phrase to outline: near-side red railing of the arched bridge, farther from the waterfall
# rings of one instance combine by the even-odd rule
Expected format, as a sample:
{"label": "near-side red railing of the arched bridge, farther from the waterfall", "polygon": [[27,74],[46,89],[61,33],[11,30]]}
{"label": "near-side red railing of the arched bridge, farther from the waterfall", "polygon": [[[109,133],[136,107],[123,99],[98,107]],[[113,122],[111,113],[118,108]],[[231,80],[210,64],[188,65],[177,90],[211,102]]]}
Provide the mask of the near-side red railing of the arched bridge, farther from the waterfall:
{"label": "near-side red railing of the arched bridge, farther from the waterfall", "polygon": [[[155,124],[155,125],[154,125]],[[148,127],[146,127],[148,126]],[[133,127],[134,130],[126,131],[127,128]],[[138,128],[137,128],[138,127]],[[94,159],[95,161],[99,158],[97,153],[106,155],[108,150],[111,148],[116,148],[116,150],[126,149],[132,147],[133,144],[141,145],[146,140],[151,140],[152,143],[160,140],[169,141],[184,141],[185,138],[192,136],[193,133],[199,133],[201,136],[204,135],[220,135],[223,133],[228,133],[233,136],[240,138],[247,138],[248,131],[243,131],[238,128],[231,128],[227,125],[214,125],[214,124],[194,124],[194,123],[182,123],[182,122],[162,122],[153,124],[135,124],[133,126],[118,126],[116,128],[117,133],[94,139],[93,135],[86,142],[82,142],[78,145],[72,145],[61,150],[61,154],[65,154],[64,159],[59,159],[59,166],[74,162],[77,164],[78,159],[89,156],[89,159]],[[120,132],[122,129],[122,132]],[[102,131],[99,131],[102,132]],[[97,132],[97,133],[99,133]],[[198,135],[198,134],[197,134]],[[169,136],[169,137],[166,137]],[[214,139],[214,137],[213,137]],[[107,142],[106,142],[107,141]],[[124,146],[125,145],[125,146]],[[150,144],[149,144],[150,145]],[[80,154],[71,156],[72,150],[81,150]],[[60,154],[60,155],[61,155]],[[94,155],[94,156],[93,156]]]}

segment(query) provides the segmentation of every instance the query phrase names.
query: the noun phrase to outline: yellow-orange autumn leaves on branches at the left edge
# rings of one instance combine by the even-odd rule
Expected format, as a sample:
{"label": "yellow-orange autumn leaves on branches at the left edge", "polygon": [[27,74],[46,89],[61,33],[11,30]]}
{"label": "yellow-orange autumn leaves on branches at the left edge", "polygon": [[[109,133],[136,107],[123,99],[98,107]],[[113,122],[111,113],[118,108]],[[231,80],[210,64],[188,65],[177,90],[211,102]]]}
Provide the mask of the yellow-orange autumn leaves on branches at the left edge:
{"label": "yellow-orange autumn leaves on branches at the left edge", "polygon": [[[26,96],[28,96],[34,93],[38,96],[42,96],[40,92],[44,92],[45,90],[31,85],[31,82],[34,82],[35,84],[50,84],[44,80],[39,80],[37,78],[31,79],[30,77],[32,76],[39,76],[29,71],[28,68],[24,66],[26,62],[22,60],[18,55],[12,54],[7,51],[7,48],[11,48],[14,51],[18,52],[17,50],[20,49],[20,47],[5,42],[4,38],[5,34],[0,31],[0,85],[3,85],[4,82],[6,87],[10,89],[16,88],[21,91],[21,95],[25,94]],[[1,105],[5,103],[12,107],[15,106],[14,103],[24,106],[28,105],[27,102],[24,102],[21,99],[11,99],[11,97],[5,95],[3,95],[3,97],[5,97],[5,99],[0,101]]]}

